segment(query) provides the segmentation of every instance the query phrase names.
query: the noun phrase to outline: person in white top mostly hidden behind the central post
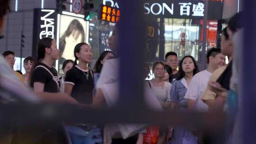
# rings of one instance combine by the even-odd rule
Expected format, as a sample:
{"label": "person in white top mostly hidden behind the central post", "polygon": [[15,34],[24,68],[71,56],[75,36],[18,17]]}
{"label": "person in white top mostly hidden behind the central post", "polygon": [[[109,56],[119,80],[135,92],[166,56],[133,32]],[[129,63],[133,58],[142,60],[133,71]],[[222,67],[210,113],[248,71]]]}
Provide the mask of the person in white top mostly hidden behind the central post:
{"label": "person in white top mostly hidden behind the central post", "polygon": [[[118,35],[117,35],[118,26],[116,25],[113,34],[109,40],[110,49],[115,51],[117,50],[117,42],[118,42]],[[96,85],[97,93],[95,98],[93,99],[92,107],[93,108],[100,108],[102,105],[104,106],[107,104],[108,107],[112,107],[116,104],[119,96],[119,58],[114,58],[106,61],[103,64],[101,70],[101,76]],[[162,111],[162,107],[156,96],[151,92],[151,89],[148,83],[145,84],[145,102],[148,107],[152,108],[156,111]],[[123,127],[127,126],[130,131],[124,131]],[[141,128],[145,128],[144,125],[126,125],[126,124],[119,124],[119,125],[106,125],[104,128],[104,144],[111,144],[115,138],[129,138],[133,139],[131,135],[138,134],[137,143],[143,142],[143,135],[142,133],[146,133],[146,130],[141,130]],[[122,137],[120,137],[120,135]],[[123,143],[128,143],[128,141],[124,140]],[[135,142],[136,143],[136,142]],[[129,143],[133,144],[133,143]]]}

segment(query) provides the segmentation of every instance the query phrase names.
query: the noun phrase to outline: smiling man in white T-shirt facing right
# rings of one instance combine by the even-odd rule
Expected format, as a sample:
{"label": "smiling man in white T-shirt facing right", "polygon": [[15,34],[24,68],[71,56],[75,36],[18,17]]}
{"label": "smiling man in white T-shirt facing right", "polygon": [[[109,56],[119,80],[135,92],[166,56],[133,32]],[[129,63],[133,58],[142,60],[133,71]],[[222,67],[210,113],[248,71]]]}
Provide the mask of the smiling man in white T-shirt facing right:
{"label": "smiling man in white T-shirt facing right", "polygon": [[210,75],[216,69],[225,65],[225,55],[221,54],[220,48],[212,48],[207,53],[208,68],[193,76],[185,99],[188,99],[188,109],[198,112],[206,112],[208,106],[201,100],[202,94],[207,87]]}

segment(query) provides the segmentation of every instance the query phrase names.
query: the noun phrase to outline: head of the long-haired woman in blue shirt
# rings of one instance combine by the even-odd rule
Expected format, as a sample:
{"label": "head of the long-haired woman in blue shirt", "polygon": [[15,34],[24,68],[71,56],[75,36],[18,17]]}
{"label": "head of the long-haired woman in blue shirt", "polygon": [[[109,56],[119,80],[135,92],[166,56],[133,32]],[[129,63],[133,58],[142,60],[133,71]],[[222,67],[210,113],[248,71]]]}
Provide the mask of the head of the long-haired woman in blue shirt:
{"label": "head of the long-haired woman in blue shirt", "polygon": [[196,61],[191,55],[184,56],[180,61],[179,65],[180,75],[177,80],[183,79],[185,75],[189,73],[193,73],[193,75],[195,75],[197,72],[199,72]]}

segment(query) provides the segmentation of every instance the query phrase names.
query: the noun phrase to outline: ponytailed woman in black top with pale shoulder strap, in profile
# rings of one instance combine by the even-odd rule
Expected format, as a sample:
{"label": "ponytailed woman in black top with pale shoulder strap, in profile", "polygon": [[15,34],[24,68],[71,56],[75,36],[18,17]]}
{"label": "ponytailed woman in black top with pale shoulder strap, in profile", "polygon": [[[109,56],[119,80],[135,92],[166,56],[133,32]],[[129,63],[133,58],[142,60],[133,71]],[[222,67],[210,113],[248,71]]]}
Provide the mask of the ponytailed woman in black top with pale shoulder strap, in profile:
{"label": "ponytailed woman in black top with pale shoulder strap, in profile", "polygon": [[37,43],[37,60],[31,70],[31,87],[35,92],[59,92],[59,79],[53,63],[59,50],[52,38],[42,38]]}

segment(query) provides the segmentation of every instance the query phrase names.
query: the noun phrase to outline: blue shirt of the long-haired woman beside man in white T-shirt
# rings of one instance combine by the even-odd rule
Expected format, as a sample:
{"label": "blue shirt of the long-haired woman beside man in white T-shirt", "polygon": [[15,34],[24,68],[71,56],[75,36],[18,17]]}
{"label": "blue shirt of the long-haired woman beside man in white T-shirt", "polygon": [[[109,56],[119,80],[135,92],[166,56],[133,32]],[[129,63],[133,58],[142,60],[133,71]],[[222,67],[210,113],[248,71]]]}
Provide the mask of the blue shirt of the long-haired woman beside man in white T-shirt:
{"label": "blue shirt of the long-haired woman beside man in white T-shirt", "polygon": [[188,100],[184,98],[187,90],[188,85],[184,78],[174,81],[171,89],[170,101],[178,103],[179,107],[187,107]]}

